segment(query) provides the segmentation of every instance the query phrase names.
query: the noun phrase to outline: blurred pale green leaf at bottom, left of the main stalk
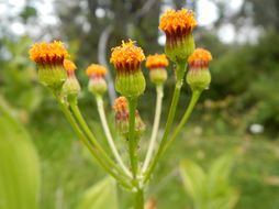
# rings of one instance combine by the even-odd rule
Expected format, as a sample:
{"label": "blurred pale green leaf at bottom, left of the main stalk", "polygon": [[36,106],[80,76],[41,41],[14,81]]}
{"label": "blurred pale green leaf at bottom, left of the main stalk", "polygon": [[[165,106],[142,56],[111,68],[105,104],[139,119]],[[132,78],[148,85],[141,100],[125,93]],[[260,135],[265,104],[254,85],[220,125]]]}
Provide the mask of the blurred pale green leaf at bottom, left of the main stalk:
{"label": "blurred pale green leaf at bottom, left of the main stalk", "polygon": [[118,209],[116,183],[107,177],[89,188],[77,209]]}

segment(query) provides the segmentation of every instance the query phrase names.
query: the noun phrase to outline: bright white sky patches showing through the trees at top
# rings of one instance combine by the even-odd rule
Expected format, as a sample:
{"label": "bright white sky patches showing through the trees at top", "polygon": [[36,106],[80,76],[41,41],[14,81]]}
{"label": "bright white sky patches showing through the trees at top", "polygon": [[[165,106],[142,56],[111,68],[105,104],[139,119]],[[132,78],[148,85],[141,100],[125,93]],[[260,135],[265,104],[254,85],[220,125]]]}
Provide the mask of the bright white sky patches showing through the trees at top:
{"label": "bright white sky patches showing through the trees at top", "polygon": [[[4,2],[3,2],[4,1]],[[9,13],[19,13],[21,9],[24,7],[26,0],[0,0],[0,19],[4,20],[4,13],[9,11]],[[188,0],[193,1],[193,0]],[[239,10],[243,4],[243,0],[220,0],[227,1],[227,11],[230,14],[234,14]],[[40,22],[42,24],[54,25],[57,23],[57,18],[54,13],[53,8],[54,0],[40,0],[34,1],[34,6],[37,8]],[[11,9],[12,8],[12,9]],[[169,7],[164,7],[163,11],[168,9]],[[102,9],[98,9],[97,15],[104,15],[104,11]],[[211,29],[212,23],[217,20],[217,8],[211,0],[199,0],[197,7],[197,19],[200,26],[205,26]],[[2,21],[3,22],[3,21]],[[10,29],[13,33],[22,35],[26,32],[26,30],[20,22],[13,22],[10,25]],[[247,33],[246,33],[247,34]],[[246,36],[236,35],[235,29],[233,24],[224,24],[217,31],[217,35],[220,40],[224,43],[233,43],[237,40],[245,42]],[[253,35],[253,33],[252,33]],[[158,37],[158,43],[165,43],[165,36],[160,34]]]}

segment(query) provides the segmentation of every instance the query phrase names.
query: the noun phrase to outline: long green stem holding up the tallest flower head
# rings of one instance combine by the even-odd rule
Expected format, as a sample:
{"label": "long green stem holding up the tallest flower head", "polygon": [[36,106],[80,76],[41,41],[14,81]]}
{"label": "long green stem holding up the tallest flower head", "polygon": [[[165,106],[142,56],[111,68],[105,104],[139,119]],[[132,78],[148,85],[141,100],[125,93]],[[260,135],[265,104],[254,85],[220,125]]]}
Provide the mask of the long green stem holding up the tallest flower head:
{"label": "long green stem holding up the tallest flower head", "polygon": [[175,87],[175,91],[174,91],[174,96],[172,96],[172,100],[171,100],[171,105],[170,105],[170,110],[169,110],[168,118],[167,118],[165,132],[164,132],[161,142],[160,142],[159,148],[158,148],[152,164],[149,165],[149,167],[145,174],[144,183],[146,183],[150,178],[153,170],[155,169],[159,158],[163,155],[164,147],[167,143],[167,139],[168,139],[171,125],[174,123],[174,119],[175,119],[175,114],[176,114],[176,110],[177,110],[177,103],[178,103],[181,87],[183,84],[185,72],[186,72],[186,64],[185,63],[178,64],[177,72],[176,72],[177,81],[176,81],[176,87]]}

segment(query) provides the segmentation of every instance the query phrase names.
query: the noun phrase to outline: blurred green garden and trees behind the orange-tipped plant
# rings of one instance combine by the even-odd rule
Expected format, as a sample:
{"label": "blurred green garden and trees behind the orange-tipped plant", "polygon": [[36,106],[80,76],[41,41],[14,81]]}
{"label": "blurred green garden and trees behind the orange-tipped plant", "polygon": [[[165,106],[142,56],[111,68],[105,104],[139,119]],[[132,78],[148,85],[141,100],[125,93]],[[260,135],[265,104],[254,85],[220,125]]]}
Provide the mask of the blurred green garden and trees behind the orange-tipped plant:
{"label": "blurred green garden and trees behind the orange-tipped plant", "polygon": [[[37,82],[35,65],[27,54],[31,44],[53,40],[66,44],[78,66],[82,87],[80,108],[101,139],[94,99],[87,91],[86,67],[91,63],[107,66],[108,81],[112,84],[110,52],[122,40],[135,40],[145,55],[164,53],[165,35],[158,30],[158,21],[169,8],[188,8],[196,12],[199,23],[194,30],[196,45],[210,50],[213,55],[212,84],[156,169],[148,199],[159,209],[192,208],[193,200],[181,186],[179,162],[189,158],[207,170],[216,157],[233,153],[230,185],[238,194],[235,208],[279,208],[278,0],[0,0],[0,183],[12,187],[3,169],[14,147],[4,155],[5,136],[22,138],[22,134],[11,134],[16,130],[13,123],[7,122],[9,117],[20,123],[18,125],[23,124],[21,129],[27,132],[32,152],[38,158],[31,164],[38,165],[36,170],[41,170],[37,172],[41,180],[34,186],[40,188],[36,197],[40,208],[76,208],[82,193],[104,176],[78,142],[52,95]],[[171,64],[168,68],[161,130],[175,82],[172,67]],[[156,97],[144,65],[143,70],[147,89],[138,109],[147,133],[141,151],[152,129],[155,110],[150,107],[155,106]],[[189,96],[190,89],[185,86],[176,121],[182,116]],[[108,112],[114,97],[115,92],[111,91],[105,99]],[[113,114],[108,117],[113,128]],[[18,142],[14,146],[24,154]],[[32,179],[32,174],[26,175]],[[3,190],[2,187],[1,193],[0,184],[0,208]],[[127,208],[129,195],[119,191],[120,208]]]}

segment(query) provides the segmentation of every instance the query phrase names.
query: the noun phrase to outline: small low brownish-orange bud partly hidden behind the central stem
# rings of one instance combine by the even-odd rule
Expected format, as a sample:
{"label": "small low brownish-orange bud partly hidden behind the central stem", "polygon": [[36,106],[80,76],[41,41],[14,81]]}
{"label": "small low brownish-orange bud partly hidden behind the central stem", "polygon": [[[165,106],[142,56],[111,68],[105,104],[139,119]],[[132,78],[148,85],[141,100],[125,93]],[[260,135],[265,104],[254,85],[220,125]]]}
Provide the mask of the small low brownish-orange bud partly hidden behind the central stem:
{"label": "small low brownish-orange bud partly hidden behind the central stem", "polygon": [[[129,134],[129,102],[125,97],[119,97],[115,99],[115,103],[113,106],[115,111],[115,123],[116,130],[121,135],[127,138]],[[135,113],[135,132],[137,135],[145,131],[145,124],[136,110]]]}

